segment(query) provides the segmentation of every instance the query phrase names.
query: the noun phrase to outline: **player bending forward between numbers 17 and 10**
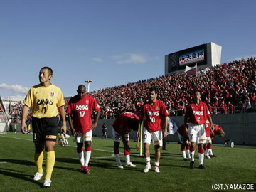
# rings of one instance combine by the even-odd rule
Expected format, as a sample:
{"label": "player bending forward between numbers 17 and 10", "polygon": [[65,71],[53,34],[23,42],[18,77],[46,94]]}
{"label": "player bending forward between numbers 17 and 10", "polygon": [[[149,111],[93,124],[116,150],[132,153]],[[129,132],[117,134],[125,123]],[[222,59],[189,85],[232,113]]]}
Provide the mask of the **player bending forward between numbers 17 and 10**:
{"label": "player bending forward between numbers 17 and 10", "polygon": [[[139,117],[132,112],[123,112],[114,121],[113,124],[113,137],[114,137],[114,156],[117,161],[117,167],[123,169],[122,163],[119,157],[119,144],[120,140],[124,144],[124,156],[125,156],[125,166],[135,167],[130,161],[130,147],[129,147],[129,132],[132,130],[137,131],[139,124]],[[139,150],[139,138],[137,138],[137,151]]]}

